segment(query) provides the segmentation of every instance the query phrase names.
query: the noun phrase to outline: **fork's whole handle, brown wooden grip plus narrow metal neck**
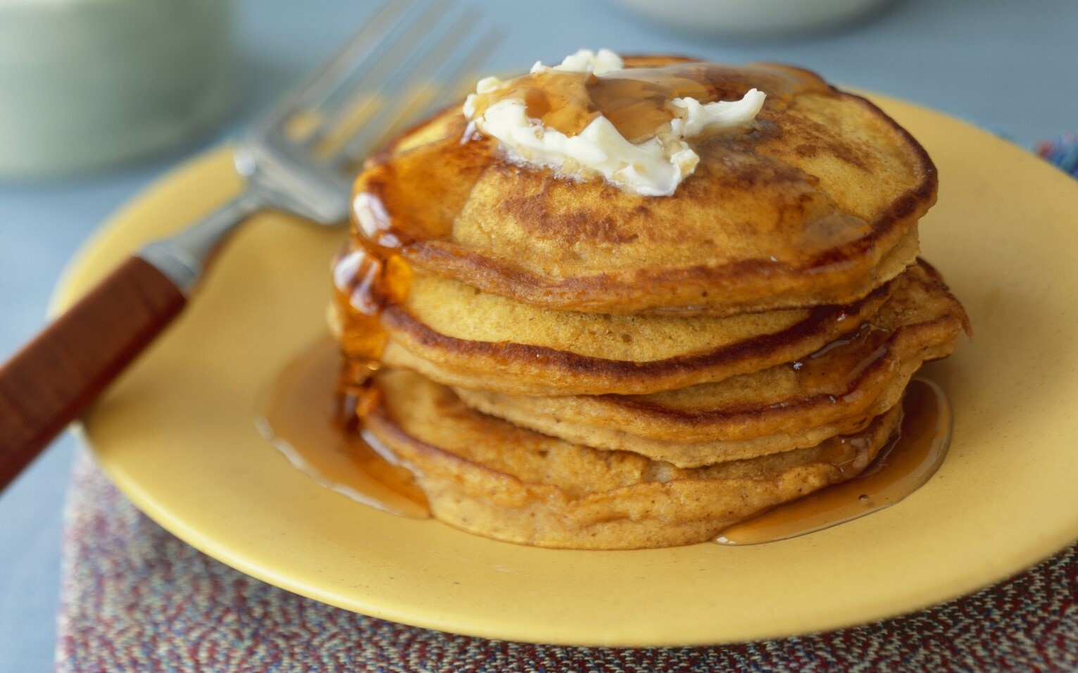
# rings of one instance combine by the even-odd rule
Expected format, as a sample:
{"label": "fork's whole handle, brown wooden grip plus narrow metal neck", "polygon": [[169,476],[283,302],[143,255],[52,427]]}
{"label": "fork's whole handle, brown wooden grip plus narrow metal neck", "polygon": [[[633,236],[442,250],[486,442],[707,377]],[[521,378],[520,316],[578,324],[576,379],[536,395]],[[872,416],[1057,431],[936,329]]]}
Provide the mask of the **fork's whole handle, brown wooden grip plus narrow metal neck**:
{"label": "fork's whole handle, brown wooden grip plus narrow metal neck", "polygon": [[172,321],[213,252],[263,204],[248,189],[150,242],[0,368],[0,492]]}

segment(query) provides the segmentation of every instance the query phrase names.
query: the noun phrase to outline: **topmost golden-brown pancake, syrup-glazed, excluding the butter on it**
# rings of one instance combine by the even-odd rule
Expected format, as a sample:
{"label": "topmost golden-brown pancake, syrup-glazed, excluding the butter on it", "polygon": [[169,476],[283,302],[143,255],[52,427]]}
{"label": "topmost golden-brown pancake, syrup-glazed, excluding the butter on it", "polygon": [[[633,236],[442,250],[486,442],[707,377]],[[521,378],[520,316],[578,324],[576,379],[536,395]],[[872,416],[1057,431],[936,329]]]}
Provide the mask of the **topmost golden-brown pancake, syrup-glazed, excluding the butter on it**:
{"label": "topmost golden-brown pancake, syrup-glazed, excluding the butter on it", "polygon": [[768,99],[751,126],[692,142],[700,165],[674,195],[515,165],[493,141],[461,143],[453,108],[359,177],[357,237],[487,292],[591,313],[848,303],[913,262],[937,180],[909,134],[804,70],[699,66],[717,99]]}

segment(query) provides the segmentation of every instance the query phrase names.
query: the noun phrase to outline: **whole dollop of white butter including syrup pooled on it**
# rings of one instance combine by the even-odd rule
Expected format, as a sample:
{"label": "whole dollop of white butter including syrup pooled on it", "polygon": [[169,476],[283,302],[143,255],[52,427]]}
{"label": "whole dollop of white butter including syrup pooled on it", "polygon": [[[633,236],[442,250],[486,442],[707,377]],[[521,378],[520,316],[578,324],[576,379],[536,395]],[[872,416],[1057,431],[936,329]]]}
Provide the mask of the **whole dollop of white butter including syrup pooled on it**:
{"label": "whole dollop of white butter including syrup pooled on it", "polygon": [[669,196],[700,163],[687,140],[747,126],[765,98],[752,88],[740,100],[706,100],[714,92],[688,64],[623,65],[609,50],[580,50],[522,78],[480,80],[464,107],[466,137],[496,138],[510,160],[563,177]]}

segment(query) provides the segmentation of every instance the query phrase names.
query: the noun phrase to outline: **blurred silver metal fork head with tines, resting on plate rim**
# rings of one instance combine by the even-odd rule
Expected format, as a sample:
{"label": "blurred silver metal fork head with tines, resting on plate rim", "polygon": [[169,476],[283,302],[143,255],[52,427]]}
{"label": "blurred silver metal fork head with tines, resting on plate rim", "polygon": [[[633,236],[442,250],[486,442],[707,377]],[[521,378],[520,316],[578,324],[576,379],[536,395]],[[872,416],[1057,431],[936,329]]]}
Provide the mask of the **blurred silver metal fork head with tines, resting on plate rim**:
{"label": "blurred silver metal fork head with tines, resting on plate rim", "polygon": [[[347,219],[363,159],[461,90],[497,36],[452,0],[387,0],[296,93],[258,120],[236,170],[267,206],[320,224]],[[455,17],[454,17],[455,15]]]}

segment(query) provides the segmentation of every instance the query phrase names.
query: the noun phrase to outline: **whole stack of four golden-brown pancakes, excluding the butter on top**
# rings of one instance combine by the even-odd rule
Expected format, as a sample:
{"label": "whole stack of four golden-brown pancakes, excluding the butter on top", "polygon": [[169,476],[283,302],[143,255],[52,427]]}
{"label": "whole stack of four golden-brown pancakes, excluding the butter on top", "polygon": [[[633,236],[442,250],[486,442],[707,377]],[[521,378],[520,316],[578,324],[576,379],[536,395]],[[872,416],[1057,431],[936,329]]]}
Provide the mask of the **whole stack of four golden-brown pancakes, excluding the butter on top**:
{"label": "whole stack of four golden-brown pancakes, excluding the butter on top", "polygon": [[516,165],[458,109],[360,176],[332,322],[367,436],[437,519],[542,547],[713,538],[856,477],[967,327],[917,259],[937,182],[908,133],[804,70],[702,72],[768,100],[673,196]]}

